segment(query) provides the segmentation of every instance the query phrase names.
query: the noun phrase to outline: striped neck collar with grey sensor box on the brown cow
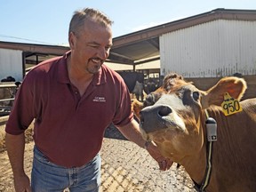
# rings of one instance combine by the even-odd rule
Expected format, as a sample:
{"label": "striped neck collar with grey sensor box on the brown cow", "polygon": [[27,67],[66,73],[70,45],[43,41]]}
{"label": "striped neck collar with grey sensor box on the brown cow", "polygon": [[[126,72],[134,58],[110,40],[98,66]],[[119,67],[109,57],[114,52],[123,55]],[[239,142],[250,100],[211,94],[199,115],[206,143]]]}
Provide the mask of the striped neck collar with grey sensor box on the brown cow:
{"label": "striped neck collar with grey sensor box on the brown cow", "polygon": [[[195,180],[193,180],[194,182],[194,188],[196,189],[196,191],[199,192],[204,192],[205,188],[207,188],[210,178],[211,178],[211,173],[212,173],[212,144],[213,141],[217,140],[217,124],[216,121],[212,118],[209,117],[209,114],[207,112],[207,110],[204,110],[205,112],[205,116],[206,116],[206,135],[207,135],[207,143],[206,143],[206,170],[204,172],[204,180],[202,181],[201,185],[197,184]],[[210,124],[210,125],[209,125]],[[212,127],[213,125],[213,127]],[[215,127],[214,127],[215,126]],[[212,128],[213,128],[213,134],[212,134]],[[211,129],[211,131],[209,131]],[[215,130],[214,130],[215,129]],[[211,133],[209,133],[211,132]],[[210,135],[209,135],[210,134]]]}

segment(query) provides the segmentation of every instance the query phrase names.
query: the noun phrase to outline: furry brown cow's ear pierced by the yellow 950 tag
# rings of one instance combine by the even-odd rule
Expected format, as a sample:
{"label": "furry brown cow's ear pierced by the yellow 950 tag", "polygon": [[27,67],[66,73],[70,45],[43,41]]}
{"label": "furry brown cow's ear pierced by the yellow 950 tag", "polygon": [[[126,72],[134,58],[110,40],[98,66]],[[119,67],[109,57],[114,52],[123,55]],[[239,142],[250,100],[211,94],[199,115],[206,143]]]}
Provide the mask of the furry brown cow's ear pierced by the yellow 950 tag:
{"label": "furry brown cow's ear pierced by the yellow 950 tag", "polygon": [[202,107],[208,108],[211,105],[220,106],[224,100],[226,92],[236,99],[241,100],[247,89],[246,82],[243,78],[235,76],[224,77],[220,81],[212,86],[207,92],[202,95]]}

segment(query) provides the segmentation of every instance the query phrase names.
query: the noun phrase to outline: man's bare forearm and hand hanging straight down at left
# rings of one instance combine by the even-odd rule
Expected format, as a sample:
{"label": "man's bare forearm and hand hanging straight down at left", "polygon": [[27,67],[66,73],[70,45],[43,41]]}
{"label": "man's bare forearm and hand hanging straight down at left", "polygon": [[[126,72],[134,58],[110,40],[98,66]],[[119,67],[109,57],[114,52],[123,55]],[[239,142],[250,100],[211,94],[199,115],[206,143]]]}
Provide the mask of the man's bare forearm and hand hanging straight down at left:
{"label": "man's bare forearm and hand hanging straight down at left", "polygon": [[25,136],[24,133],[20,135],[12,135],[6,132],[5,146],[7,148],[10,163],[12,165],[12,172],[14,177],[14,187],[16,191],[31,191],[30,181],[24,172],[24,148]]}

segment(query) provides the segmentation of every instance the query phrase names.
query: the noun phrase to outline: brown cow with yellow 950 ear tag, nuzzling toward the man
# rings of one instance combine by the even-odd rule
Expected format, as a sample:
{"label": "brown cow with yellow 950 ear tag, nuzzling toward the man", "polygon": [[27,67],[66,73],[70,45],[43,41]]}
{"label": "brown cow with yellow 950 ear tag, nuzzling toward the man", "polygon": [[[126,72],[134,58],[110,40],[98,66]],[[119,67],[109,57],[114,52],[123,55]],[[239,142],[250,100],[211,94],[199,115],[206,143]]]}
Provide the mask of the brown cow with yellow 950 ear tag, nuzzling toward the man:
{"label": "brown cow with yellow 950 ear tag, nuzzling toward the man", "polygon": [[182,76],[168,75],[144,101],[141,133],[185,167],[198,191],[254,192],[256,99],[239,102],[245,89],[244,79],[235,76],[204,92]]}

